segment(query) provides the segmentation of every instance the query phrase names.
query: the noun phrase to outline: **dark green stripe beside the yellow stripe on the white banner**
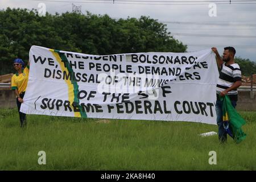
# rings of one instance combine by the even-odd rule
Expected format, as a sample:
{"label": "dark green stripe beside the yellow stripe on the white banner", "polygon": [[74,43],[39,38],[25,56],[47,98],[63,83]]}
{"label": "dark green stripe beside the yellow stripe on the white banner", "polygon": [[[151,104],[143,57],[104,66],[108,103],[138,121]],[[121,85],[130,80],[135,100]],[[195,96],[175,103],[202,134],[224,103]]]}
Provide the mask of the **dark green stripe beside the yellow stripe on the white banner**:
{"label": "dark green stripe beside the yellow stripe on the white banner", "polygon": [[66,68],[68,69],[68,72],[71,74],[71,83],[73,85],[73,92],[74,92],[74,104],[77,104],[80,110],[81,118],[87,118],[87,114],[84,109],[82,109],[82,106],[79,104],[79,98],[77,98],[77,93],[79,93],[79,85],[77,84],[75,78],[72,76],[74,74],[73,69],[71,68],[71,65],[69,64],[69,61],[65,54],[63,52],[60,52],[59,50],[54,50],[55,52],[59,53],[59,56],[61,60],[64,62]]}

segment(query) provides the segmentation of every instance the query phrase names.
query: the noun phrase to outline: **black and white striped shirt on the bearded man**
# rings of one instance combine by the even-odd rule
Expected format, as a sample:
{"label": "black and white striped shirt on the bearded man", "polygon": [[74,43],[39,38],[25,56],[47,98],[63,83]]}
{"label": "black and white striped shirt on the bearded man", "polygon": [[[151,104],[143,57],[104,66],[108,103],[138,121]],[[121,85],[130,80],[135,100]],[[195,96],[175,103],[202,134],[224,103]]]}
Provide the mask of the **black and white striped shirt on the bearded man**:
{"label": "black and white striped shirt on the bearded man", "polygon": [[[220,77],[218,77],[218,82],[216,86],[217,94],[220,94],[222,91],[228,89],[236,81],[241,81],[241,70],[240,66],[237,63],[230,65],[221,65]],[[228,95],[236,95],[234,100],[237,100],[237,89],[231,90],[228,92]]]}

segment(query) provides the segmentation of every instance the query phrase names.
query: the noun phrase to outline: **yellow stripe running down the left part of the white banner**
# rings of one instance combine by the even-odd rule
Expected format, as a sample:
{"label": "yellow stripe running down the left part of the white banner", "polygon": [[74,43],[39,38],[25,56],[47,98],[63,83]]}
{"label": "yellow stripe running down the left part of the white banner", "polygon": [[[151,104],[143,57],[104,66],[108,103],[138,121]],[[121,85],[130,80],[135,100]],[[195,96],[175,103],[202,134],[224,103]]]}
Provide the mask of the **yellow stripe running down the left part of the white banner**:
{"label": "yellow stripe running down the left part of the white banner", "polygon": [[[68,69],[64,66],[64,63],[61,61],[60,55],[59,53],[55,52],[54,49],[49,49],[49,51],[52,52],[53,56],[55,57],[55,59],[58,61],[58,63],[60,64],[60,68],[62,72],[67,72],[68,73]],[[73,101],[74,101],[74,86],[71,82],[71,80],[65,80],[65,82],[68,85],[68,101],[70,102],[70,106],[72,107],[72,109],[74,110],[74,107],[72,105]],[[81,114],[80,112],[74,112],[74,116],[75,117],[80,117],[81,118]]]}

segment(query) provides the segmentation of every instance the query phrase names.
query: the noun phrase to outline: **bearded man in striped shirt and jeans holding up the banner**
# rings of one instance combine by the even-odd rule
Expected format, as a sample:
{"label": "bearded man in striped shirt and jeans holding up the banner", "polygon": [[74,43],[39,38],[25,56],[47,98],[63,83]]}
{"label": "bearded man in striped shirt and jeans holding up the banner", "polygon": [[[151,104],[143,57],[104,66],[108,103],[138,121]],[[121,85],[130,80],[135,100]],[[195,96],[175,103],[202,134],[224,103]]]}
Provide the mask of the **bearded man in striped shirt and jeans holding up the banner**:
{"label": "bearded man in striped shirt and jeans holding up the banner", "polygon": [[227,134],[224,128],[224,122],[222,121],[222,102],[220,101],[220,97],[228,95],[233,107],[236,107],[238,100],[237,88],[242,85],[241,71],[239,65],[234,63],[236,49],[225,47],[222,59],[216,47],[213,47],[212,51],[216,54],[218,68],[221,69],[216,86],[218,139],[220,142],[226,142]]}

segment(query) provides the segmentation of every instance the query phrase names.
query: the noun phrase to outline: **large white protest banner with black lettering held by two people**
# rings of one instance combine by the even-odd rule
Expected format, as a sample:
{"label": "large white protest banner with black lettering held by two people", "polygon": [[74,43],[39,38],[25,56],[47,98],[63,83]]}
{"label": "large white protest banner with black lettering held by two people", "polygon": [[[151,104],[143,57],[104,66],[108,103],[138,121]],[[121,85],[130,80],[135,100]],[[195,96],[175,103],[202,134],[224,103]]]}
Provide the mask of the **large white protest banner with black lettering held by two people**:
{"label": "large white protest banner with black lettering held by two people", "polygon": [[98,56],[32,46],[20,111],[216,124],[217,79],[211,49]]}

